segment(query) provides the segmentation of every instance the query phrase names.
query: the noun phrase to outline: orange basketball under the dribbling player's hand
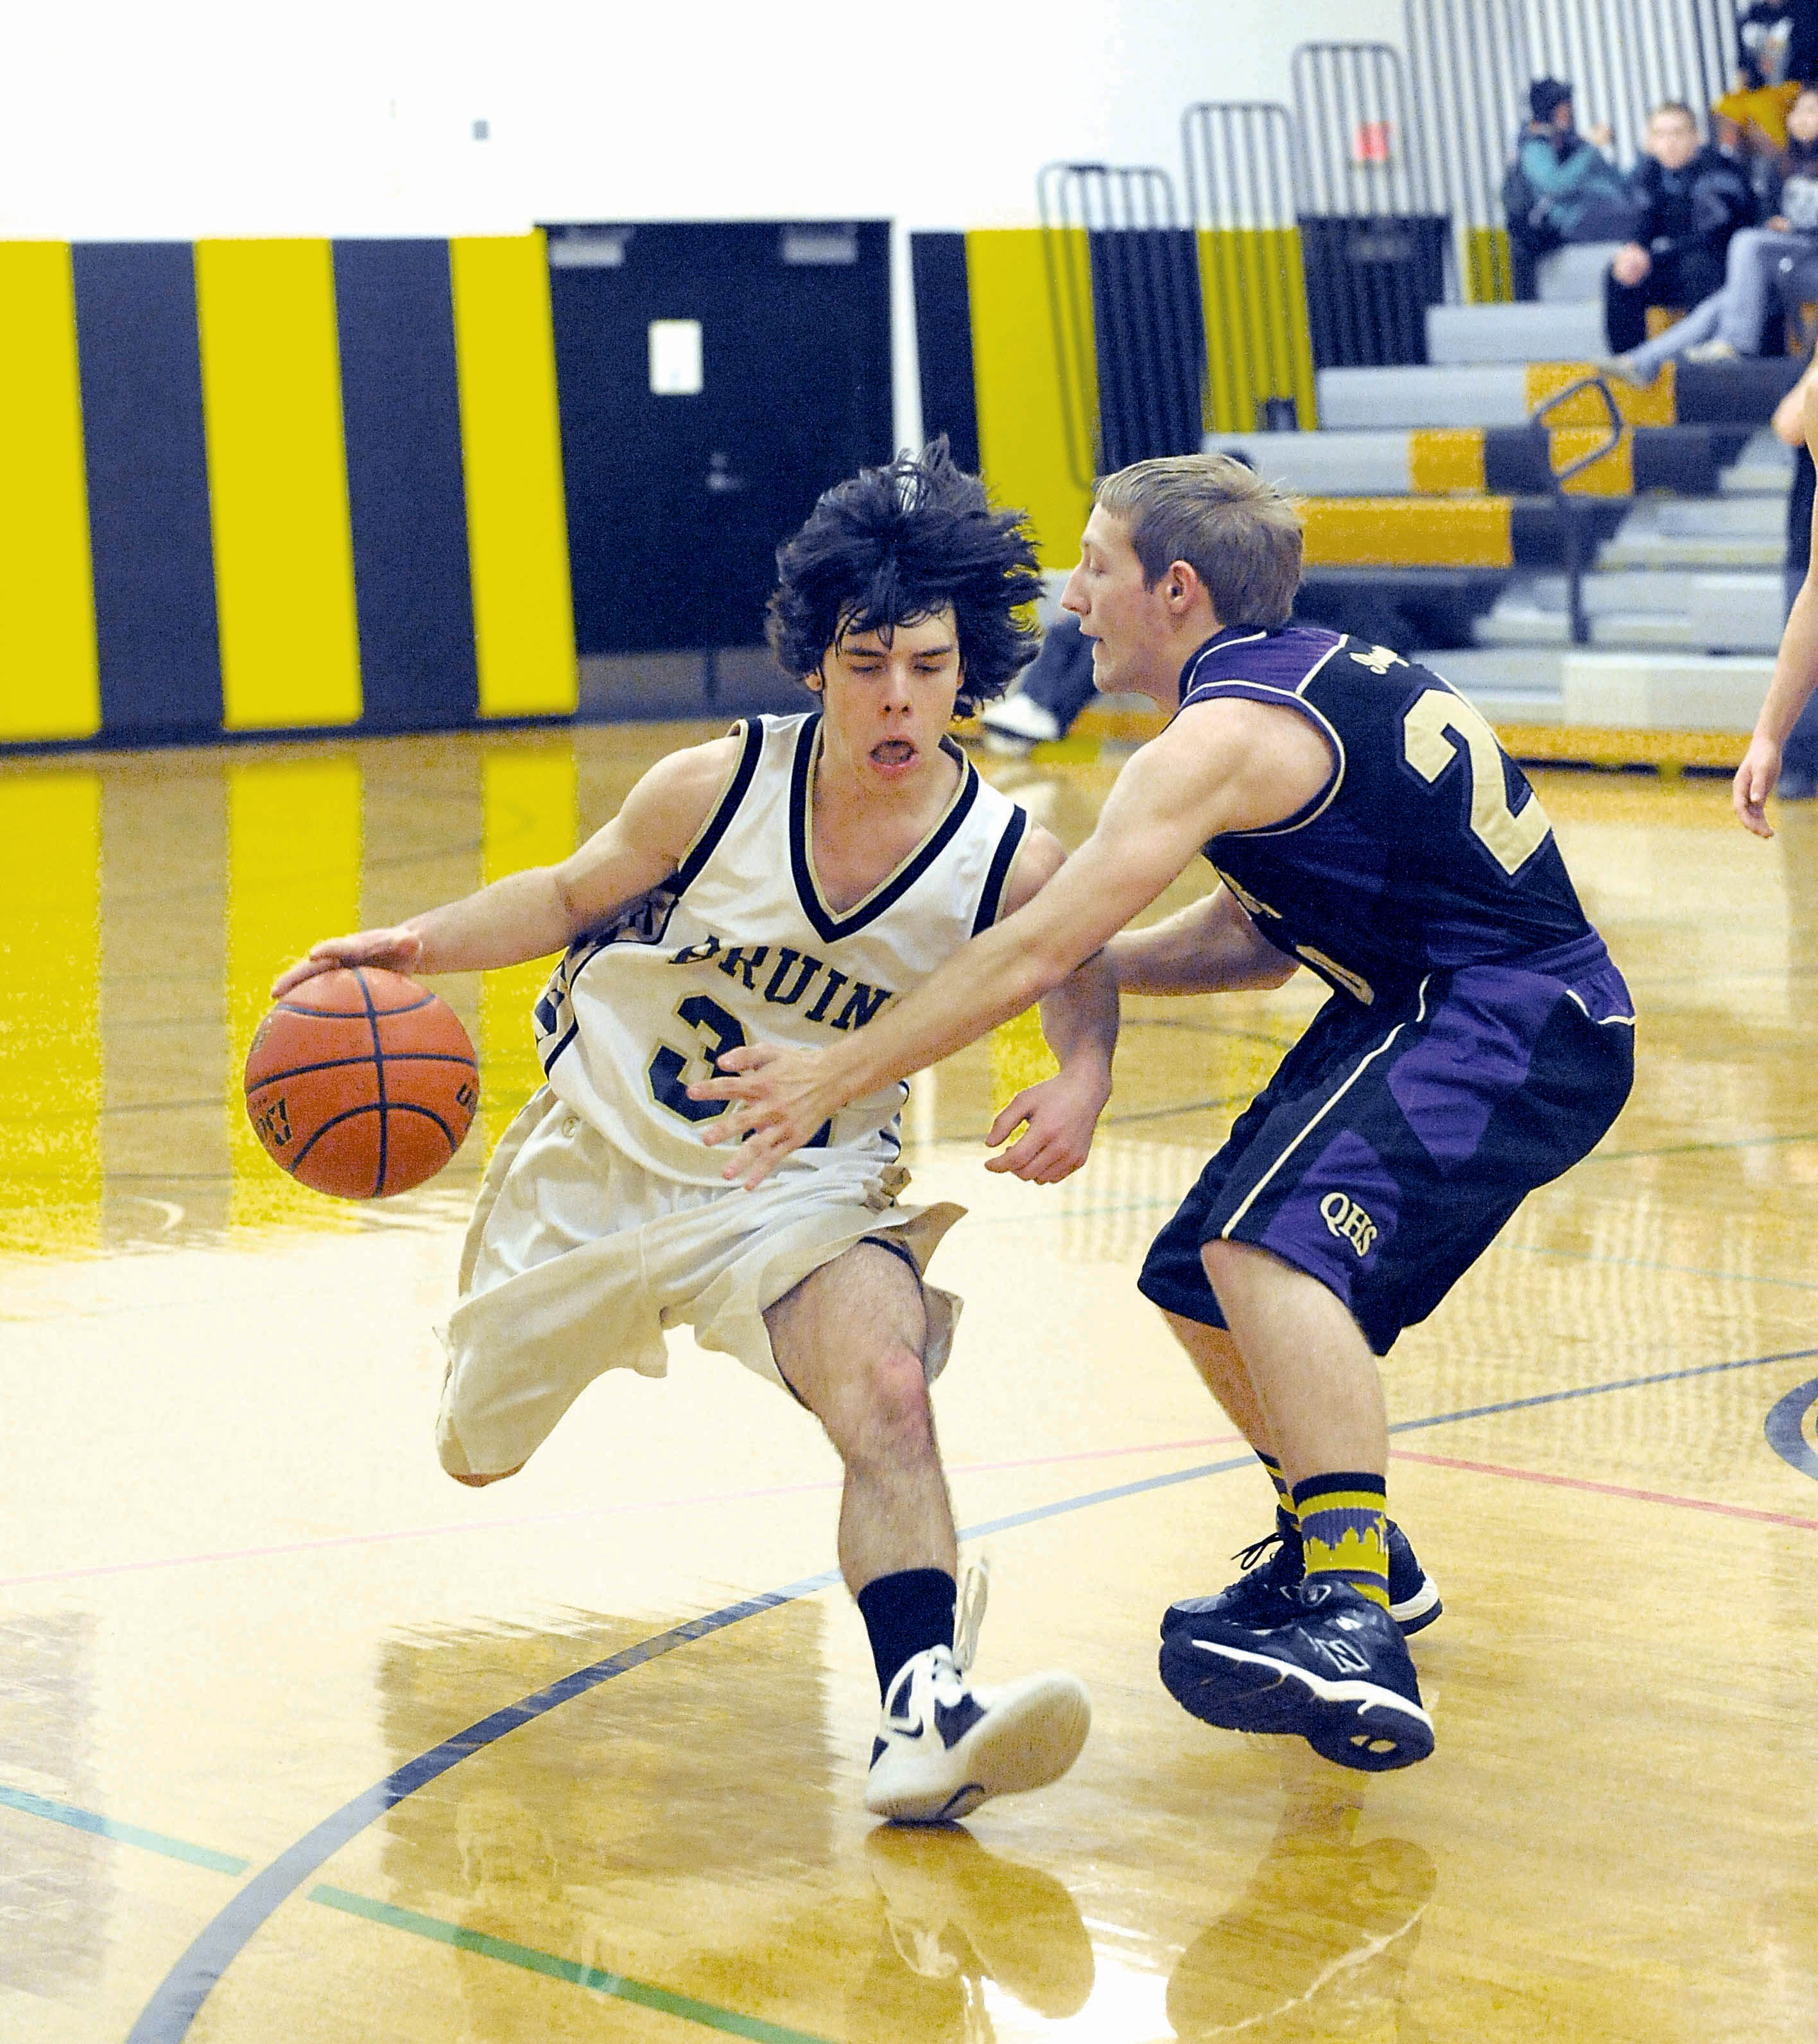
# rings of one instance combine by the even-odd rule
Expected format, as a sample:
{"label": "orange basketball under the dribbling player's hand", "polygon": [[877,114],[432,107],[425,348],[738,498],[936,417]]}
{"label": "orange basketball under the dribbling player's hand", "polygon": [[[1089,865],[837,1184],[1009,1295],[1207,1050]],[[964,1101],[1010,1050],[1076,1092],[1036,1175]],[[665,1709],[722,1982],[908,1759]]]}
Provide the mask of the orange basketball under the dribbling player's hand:
{"label": "orange basketball under the dribbling player's hand", "polygon": [[374,965],[292,987],[245,1053],[245,1112],[266,1153],[339,1200],[382,1200],[434,1177],[479,1102],[456,1012]]}

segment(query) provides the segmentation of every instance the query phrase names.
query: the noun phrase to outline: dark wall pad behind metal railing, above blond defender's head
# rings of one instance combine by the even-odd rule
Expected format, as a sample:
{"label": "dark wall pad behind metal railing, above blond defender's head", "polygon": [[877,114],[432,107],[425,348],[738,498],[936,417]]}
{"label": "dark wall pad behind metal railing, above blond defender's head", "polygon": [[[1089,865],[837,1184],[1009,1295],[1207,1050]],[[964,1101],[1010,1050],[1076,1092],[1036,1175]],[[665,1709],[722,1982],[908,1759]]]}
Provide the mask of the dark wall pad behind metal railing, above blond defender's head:
{"label": "dark wall pad behind metal railing, above blond defender's head", "polygon": [[1100,466],[1198,454],[1207,339],[1198,245],[1184,227],[1094,229]]}

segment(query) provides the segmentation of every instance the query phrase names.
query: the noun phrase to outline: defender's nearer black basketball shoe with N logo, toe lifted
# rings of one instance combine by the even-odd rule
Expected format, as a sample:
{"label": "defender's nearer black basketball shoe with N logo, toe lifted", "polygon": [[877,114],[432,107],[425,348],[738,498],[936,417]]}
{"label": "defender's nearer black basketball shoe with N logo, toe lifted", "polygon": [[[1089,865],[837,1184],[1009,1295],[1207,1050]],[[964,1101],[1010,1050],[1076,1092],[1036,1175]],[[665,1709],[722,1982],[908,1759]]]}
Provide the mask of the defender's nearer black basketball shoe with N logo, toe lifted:
{"label": "defender's nearer black basketball shoe with N logo, toe lifted", "polygon": [[1434,1750],[1434,1721],[1395,1619],[1337,1576],[1313,1576],[1274,1625],[1198,1617],[1162,1641],[1162,1684],[1207,1725],[1303,1737],[1368,1774]]}

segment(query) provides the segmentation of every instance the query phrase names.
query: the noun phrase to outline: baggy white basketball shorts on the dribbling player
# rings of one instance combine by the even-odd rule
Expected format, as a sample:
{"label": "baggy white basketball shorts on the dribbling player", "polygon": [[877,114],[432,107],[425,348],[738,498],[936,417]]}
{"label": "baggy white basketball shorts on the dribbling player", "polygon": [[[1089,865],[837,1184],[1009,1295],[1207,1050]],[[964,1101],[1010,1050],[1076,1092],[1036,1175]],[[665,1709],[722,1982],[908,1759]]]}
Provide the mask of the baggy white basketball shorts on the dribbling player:
{"label": "baggy white basketball shorts on the dribbling player", "polygon": [[[757,1192],[685,1186],[632,1163],[544,1087],[487,1167],[442,1329],[436,1451],[452,1476],[497,1476],[540,1447],[607,1369],[661,1378],[667,1327],[783,1384],[765,1308],[865,1237],[924,1271],[963,1206],[898,1206],[908,1173],[822,1151]],[[928,1380],[959,1300],[924,1286]],[[783,1386],[787,1388],[787,1386]]]}

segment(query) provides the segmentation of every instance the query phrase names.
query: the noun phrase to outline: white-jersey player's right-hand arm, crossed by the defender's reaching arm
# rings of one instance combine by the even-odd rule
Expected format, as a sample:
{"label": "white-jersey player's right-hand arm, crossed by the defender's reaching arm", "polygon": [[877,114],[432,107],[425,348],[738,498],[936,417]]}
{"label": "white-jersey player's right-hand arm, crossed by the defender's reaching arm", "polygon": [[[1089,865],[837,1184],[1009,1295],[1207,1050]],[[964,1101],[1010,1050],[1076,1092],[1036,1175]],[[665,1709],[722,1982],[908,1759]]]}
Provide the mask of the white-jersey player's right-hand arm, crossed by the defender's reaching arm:
{"label": "white-jersey player's right-hand arm, crossed by the defender's reaching arm", "polygon": [[[1014,914],[1059,871],[1065,854],[1059,840],[1037,826],[1029,832],[1004,910]],[[986,1163],[986,1171],[1010,1171],[1033,1186],[1055,1186],[1092,1153],[1092,1130],[1110,1100],[1110,1059],[1117,1051],[1117,979],[1104,953],[1096,950],[1041,1002],[1041,1032],[1059,1059],[1051,1079],[1025,1085],[992,1122],[986,1143],[1010,1147]],[[1018,1134],[1020,1130],[1020,1134]]]}

